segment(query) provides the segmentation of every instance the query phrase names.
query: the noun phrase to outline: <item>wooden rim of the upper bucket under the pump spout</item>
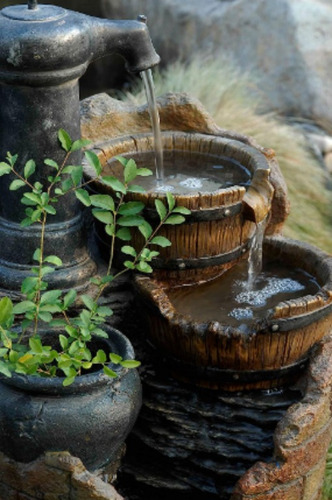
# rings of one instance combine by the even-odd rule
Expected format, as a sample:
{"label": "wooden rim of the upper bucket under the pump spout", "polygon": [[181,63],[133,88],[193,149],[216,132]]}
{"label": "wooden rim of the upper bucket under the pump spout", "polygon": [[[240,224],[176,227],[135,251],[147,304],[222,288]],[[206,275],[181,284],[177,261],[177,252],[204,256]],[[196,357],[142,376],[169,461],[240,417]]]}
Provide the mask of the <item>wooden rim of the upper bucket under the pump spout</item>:
{"label": "wooden rim of the upper bucket under the pump spout", "polygon": [[[236,160],[250,171],[252,174],[251,182],[254,181],[257,171],[270,171],[269,163],[260,151],[234,139],[199,133],[164,131],[162,132],[162,140],[164,151],[176,150],[183,153],[190,151],[191,153],[225,156]],[[126,155],[130,157],[130,155],[135,156],[137,153],[153,151],[153,142],[152,133],[134,134],[95,144],[93,151],[98,155],[101,164],[105,166],[115,156]],[[95,172],[86,162],[84,162],[84,175],[88,180],[95,177]],[[99,191],[109,189],[99,180],[95,181],[95,185],[98,186]],[[178,204],[187,206],[190,210],[199,210],[234,205],[241,201],[245,192],[245,187],[234,185],[230,188],[217,189],[212,193],[192,193],[183,196],[175,194],[174,196]],[[144,194],[140,196],[146,198]],[[148,205],[154,207],[154,199],[165,197],[165,193],[149,192]]]}

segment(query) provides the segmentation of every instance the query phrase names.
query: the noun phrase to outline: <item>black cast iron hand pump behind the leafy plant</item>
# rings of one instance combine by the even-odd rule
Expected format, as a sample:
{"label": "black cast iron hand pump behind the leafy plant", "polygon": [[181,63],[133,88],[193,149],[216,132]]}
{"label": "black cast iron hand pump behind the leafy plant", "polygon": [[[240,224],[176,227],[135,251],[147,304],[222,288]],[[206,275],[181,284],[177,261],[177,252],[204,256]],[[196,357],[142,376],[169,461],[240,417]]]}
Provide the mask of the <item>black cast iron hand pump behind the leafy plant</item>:
{"label": "black cast iron hand pump behind the leafy plant", "polygon": [[[45,158],[59,163],[63,152],[57,132],[80,137],[78,80],[89,64],[106,54],[122,55],[132,72],[159,62],[148,29],[140,21],[98,19],[53,5],[9,6],[0,11],[0,161],[7,151],[18,154],[17,170],[30,158],[35,179],[51,175]],[[71,164],[79,164],[74,153]],[[53,172],[52,172],[53,173]],[[10,177],[10,176],[8,176]],[[0,288],[19,290],[38,246],[39,228],[21,228],[25,217],[22,193],[9,191],[12,179],[0,179]],[[50,218],[45,251],[58,255],[64,268],[50,276],[50,285],[71,288],[87,282],[95,270],[86,245],[82,213],[68,194]]]}

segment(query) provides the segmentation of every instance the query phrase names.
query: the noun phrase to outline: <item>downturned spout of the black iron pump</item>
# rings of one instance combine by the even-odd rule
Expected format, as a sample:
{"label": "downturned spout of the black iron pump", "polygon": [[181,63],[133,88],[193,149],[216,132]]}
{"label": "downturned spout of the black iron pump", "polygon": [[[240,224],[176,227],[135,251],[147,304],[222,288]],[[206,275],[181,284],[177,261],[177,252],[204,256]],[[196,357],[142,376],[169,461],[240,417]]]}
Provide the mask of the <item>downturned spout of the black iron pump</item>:
{"label": "downturned spout of the black iron pump", "polygon": [[127,69],[132,73],[145,71],[160,62],[143,16],[138,21],[94,18],[91,34],[91,60],[117,53],[125,59]]}

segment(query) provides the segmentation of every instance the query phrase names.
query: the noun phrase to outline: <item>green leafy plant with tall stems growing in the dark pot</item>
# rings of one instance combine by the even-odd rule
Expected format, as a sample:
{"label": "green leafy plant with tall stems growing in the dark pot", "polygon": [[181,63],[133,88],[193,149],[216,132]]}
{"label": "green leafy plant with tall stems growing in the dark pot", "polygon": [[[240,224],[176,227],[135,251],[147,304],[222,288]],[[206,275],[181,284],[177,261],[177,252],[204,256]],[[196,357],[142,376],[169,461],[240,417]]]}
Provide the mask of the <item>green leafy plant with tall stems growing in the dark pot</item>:
{"label": "green leafy plant with tall stems growing in the dark pot", "polygon": [[[21,202],[26,206],[26,217],[22,226],[38,224],[40,226],[40,244],[33,254],[35,265],[31,274],[24,279],[21,292],[24,300],[13,304],[9,297],[0,300],[0,373],[11,377],[12,373],[44,377],[63,376],[63,385],[70,385],[84,371],[92,370],[94,366],[102,367],[106,375],[116,377],[112,365],[125,368],[135,368],[140,363],[136,360],[124,360],[116,353],[107,353],[103,349],[92,352],[90,343],[96,338],[107,338],[103,329],[112,310],[100,305],[100,298],[109,284],[120,275],[130,270],[151,273],[151,261],[159,252],[155,247],[166,247],[170,241],[159,236],[158,232],[164,224],[181,224],[184,215],[190,211],[184,207],[176,207],[174,197],[167,193],[167,206],[156,200],[156,210],[159,223],[153,228],[142,215],[144,203],[126,201],[128,193],[144,192],[135,184],[137,177],[151,175],[147,168],[138,168],[133,159],[119,157],[123,166],[123,178],[102,176],[102,166],[98,156],[90,150],[85,151],[86,160],[95,171],[96,177],[105,185],[111,187],[113,196],[109,194],[89,194],[85,189],[89,181],[82,184],[83,167],[70,165],[70,155],[84,147],[86,140],[72,141],[68,133],[60,130],[58,139],[64,150],[61,165],[52,159],[46,159],[45,164],[54,171],[48,177],[48,185],[32,182],[36,172],[36,164],[29,160],[23,173],[16,170],[17,155],[7,154],[5,162],[0,163],[0,176],[12,174],[14,180],[9,189],[16,191],[25,188]],[[106,274],[91,279],[95,294],[80,296],[84,306],[75,316],[71,308],[77,300],[77,292],[70,290],[49,290],[47,276],[62,266],[61,259],[56,255],[45,255],[45,230],[49,217],[57,213],[56,207],[60,198],[68,193],[75,196],[83,205],[91,207],[93,216],[105,226],[106,233],[111,238],[110,255]],[[140,250],[129,245],[131,229],[137,228],[144,237]],[[112,272],[116,240],[126,242],[121,251],[127,257],[123,268]],[[57,345],[44,344],[41,326],[47,324],[49,329],[60,328]]]}

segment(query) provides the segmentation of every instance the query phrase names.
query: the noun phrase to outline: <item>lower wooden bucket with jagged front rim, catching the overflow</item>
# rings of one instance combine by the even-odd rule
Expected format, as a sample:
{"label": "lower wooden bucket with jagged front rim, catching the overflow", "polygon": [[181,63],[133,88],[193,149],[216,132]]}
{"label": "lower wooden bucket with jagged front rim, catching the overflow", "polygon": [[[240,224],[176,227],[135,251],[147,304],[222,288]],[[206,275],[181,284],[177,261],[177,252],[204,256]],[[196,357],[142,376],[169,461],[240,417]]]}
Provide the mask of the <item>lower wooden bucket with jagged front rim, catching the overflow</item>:
{"label": "lower wooden bucket with jagged front rim, catching the overflow", "polygon": [[332,330],[332,257],[281,237],[266,238],[264,252],[268,260],[310,273],[320,290],[278,304],[251,333],[181,315],[168,285],[136,277],[147,336],[166,355],[175,377],[228,391],[285,385],[299,376],[312,346]]}

